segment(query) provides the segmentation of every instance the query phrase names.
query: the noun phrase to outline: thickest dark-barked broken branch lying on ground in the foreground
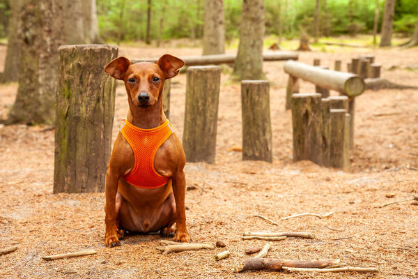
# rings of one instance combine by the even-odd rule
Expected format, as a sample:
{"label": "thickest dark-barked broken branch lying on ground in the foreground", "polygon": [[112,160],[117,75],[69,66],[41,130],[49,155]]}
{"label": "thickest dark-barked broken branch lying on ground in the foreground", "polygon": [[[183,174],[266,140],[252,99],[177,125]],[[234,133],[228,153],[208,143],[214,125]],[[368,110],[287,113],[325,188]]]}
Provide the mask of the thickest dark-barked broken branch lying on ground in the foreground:
{"label": "thickest dark-barked broken branch lying on ground in the foreground", "polygon": [[327,266],[334,266],[335,264],[339,264],[339,262],[339,259],[291,261],[288,259],[251,258],[245,260],[242,264],[240,264],[240,266],[236,266],[234,272],[254,270],[281,271],[283,270],[284,266],[323,269]]}

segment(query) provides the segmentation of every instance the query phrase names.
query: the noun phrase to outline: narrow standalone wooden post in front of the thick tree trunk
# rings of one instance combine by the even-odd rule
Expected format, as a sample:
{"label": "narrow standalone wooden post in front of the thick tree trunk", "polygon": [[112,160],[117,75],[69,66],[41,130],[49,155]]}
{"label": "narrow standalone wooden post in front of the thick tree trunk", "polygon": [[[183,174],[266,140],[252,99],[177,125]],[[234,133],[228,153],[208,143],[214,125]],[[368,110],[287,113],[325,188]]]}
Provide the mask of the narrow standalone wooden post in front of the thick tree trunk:
{"label": "narrow standalone wooden post in front of the thick tree trunk", "polygon": [[267,80],[242,80],[242,160],[272,163],[270,86]]}

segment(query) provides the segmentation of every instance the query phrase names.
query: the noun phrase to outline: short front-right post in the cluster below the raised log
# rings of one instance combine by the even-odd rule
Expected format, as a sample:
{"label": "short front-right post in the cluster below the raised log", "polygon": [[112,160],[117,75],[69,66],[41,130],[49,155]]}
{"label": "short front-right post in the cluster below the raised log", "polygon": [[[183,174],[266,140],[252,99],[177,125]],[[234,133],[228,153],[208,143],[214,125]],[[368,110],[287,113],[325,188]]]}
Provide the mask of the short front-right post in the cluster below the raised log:
{"label": "short front-right post in the cluster below the raised log", "polygon": [[330,110],[331,116],[331,151],[330,163],[332,167],[348,166],[348,151],[344,150],[345,129],[346,129],[346,110]]}

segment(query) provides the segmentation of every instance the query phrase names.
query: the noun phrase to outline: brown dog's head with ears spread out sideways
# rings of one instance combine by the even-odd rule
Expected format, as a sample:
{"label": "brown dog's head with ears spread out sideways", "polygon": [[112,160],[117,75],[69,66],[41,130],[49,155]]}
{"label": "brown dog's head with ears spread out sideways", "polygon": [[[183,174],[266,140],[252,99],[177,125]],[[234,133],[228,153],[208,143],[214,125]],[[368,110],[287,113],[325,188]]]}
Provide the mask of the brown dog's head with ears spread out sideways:
{"label": "brown dog's head with ears spread out sideways", "polygon": [[164,54],[157,63],[131,64],[121,56],[104,67],[104,72],[116,80],[123,80],[128,98],[136,107],[146,109],[162,97],[164,81],[175,77],[185,62],[176,56]]}

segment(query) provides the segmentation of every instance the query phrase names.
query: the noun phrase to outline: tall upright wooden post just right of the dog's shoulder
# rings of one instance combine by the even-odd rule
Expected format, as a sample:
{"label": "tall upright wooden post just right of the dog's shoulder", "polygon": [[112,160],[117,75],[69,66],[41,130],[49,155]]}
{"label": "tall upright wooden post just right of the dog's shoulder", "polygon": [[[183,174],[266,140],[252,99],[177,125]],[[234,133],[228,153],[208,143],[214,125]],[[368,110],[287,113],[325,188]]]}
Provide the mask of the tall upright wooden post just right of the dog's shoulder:
{"label": "tall upright wooden post just right of the dog's shoulder", "polygon": [[188,162],[215,163],[217,114],[222,68],[187,68],[183,148]]}

